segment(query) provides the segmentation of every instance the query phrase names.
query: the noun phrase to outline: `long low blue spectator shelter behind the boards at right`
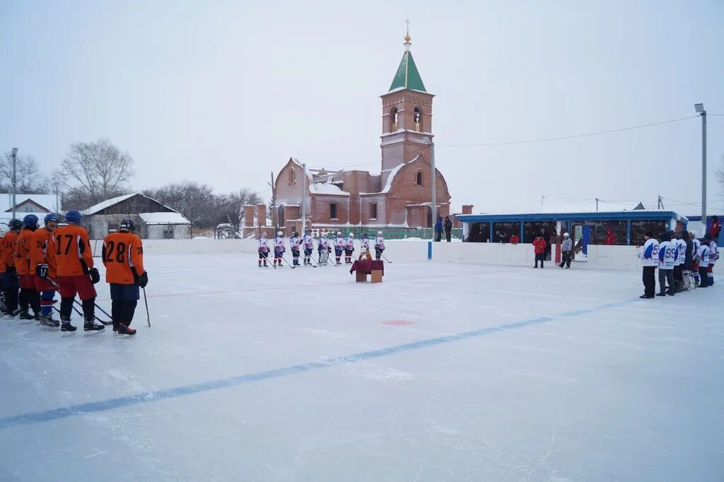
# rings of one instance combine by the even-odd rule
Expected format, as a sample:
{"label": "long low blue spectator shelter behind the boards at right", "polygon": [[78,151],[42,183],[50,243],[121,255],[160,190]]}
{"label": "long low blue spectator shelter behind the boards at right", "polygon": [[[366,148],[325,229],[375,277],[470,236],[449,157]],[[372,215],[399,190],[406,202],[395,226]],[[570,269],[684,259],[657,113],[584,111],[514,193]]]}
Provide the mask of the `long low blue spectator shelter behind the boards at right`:
{"label": "long low blue spectator shelter behind the boards at right", "polygon": [[589,245],[642,245],[644,233],[680,230],[689,222],[674,211],[633,211],[460,214],[464,242],[508,242],[515,233],[529,243],[544,228],[552,236],[568,232],[573,240]]}

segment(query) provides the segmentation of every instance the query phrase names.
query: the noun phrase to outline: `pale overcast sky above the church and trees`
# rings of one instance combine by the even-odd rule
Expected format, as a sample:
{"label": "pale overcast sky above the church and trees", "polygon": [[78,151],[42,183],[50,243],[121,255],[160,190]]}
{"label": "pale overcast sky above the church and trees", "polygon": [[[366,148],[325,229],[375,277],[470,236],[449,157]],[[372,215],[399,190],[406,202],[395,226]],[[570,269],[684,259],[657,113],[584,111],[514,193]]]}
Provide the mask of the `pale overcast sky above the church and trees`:
{"label": "pale overcast sky above the church and trees", "polygon": [[[0,0],[0,150],[43,169],[109,138],[136,189],[266,182],[290,156],[379,172],[405,19],[434,93],[452,211],[701,200],[698,117],[546,143],[500,143],[724,114],[724,2]],[[710,210],[724,116],[710,116]],[[673,201],[665,200],[670,207]],[[697,213],[697,206],[673,206]]]}

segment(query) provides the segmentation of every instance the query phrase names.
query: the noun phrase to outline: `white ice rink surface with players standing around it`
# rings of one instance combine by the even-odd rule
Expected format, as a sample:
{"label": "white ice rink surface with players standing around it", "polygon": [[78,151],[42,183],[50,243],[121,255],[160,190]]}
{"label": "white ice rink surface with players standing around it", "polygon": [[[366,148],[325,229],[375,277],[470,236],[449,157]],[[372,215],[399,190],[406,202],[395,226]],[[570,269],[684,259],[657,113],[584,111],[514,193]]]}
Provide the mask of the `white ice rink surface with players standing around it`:
{"label": "white ice rink surface with players standing around it", "polygon": [[724,481],[722,284],[146,263],[134,338],[0,320],[1,481]]}

